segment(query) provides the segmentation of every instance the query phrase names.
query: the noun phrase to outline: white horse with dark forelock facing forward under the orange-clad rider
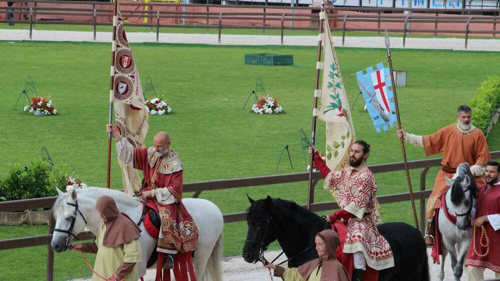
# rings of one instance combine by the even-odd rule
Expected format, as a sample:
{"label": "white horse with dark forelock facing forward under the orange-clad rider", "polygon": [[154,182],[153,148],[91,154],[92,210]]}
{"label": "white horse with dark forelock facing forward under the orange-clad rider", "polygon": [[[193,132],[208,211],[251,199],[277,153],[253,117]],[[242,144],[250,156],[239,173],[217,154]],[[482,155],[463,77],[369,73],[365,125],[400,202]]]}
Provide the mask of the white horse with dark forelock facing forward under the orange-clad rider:
{"label": "white horse with dark forelock facing forward under the orange-clad rider", "polygon": [[[453,178],[446,177],[446,184],[449,185],[445,194],[447,210],[441,206],[438,217],[439,232],[443,242],[441,271],[438,276],[441,281],[444,279],[444,259],[449,253],[453,275],[455,280],[459,281],[470,244],[470,227],[474,216],[477,186],[467,163],[460,163]],[[446,217],[445,211],[456,216],[456,224]]]}

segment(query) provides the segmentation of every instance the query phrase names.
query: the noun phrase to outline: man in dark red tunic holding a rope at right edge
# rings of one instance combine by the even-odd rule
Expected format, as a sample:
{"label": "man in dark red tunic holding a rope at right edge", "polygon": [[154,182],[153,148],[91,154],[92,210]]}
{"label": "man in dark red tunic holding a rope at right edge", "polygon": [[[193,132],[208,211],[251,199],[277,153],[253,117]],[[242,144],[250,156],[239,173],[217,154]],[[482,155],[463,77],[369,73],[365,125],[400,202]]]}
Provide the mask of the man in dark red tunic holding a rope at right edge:
{"label": "man in dark red tunic holding a rope at right edge", "polygon": [[[500,278],[500,163],[489,161],[486,164],[486,184],[477,192],[477,204],[474,219],[475,234],[470,239],[470,246],[465,258],[468,267],[468,280],[484,279],[484,268],[495,272]],[[485,236],[482,233],[485,230]]]}

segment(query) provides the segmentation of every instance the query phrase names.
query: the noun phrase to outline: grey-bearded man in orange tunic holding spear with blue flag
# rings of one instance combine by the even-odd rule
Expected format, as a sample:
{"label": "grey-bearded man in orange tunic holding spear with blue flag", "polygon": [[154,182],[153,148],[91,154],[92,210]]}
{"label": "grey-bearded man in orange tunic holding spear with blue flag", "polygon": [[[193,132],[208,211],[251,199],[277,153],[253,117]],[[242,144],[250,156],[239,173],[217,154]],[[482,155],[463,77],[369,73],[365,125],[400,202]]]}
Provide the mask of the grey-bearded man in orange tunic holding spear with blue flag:
{"label": "grey-bearded man in orange tunic holding spear with blue flag", "polygon": [[414,146],[421,146],[425,156],[442,152],[441,170],[437,173],[432,193],[427,201],[427,232],[425,243],[434,245],[434,215],[441,206],[439,196],[447,187],[445,176],[452,178],[459,163],[467,162],[470,171],[475,176],[477,186],[484,184],[482,174],[486,163],[491,159],[488,145],[482,131],[470,122],[472,109],[467,105],[460,105],[456,111],[456,124],[447,125],[437,132],[428,135],[415,135],[402,129],[397,131],[399,138],[404,139]]}

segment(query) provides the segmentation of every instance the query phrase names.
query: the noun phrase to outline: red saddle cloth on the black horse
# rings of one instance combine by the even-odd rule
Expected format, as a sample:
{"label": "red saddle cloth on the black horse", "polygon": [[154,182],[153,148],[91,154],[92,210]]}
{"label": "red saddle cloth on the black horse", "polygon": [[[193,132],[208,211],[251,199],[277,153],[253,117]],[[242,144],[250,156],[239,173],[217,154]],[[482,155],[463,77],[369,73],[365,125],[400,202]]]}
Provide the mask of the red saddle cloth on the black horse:
{"label": "red saddle cloth on the black horse", "polygon": [[[345,243],[345,236],[347,235],[347,227],[342,221],[337,220],[331,224],[331,229],[337,231],[338,238],[340,239],[340,244],[337,247],[337,259],[342,263],[347,272],[349,272],[349,278],[352,280],[352,273],[354,272],[354,257],[352,253],[343,252],[343,246]],[[366,270],[363,273],[363,281],[377,281],[378,271],[366,265]]]}

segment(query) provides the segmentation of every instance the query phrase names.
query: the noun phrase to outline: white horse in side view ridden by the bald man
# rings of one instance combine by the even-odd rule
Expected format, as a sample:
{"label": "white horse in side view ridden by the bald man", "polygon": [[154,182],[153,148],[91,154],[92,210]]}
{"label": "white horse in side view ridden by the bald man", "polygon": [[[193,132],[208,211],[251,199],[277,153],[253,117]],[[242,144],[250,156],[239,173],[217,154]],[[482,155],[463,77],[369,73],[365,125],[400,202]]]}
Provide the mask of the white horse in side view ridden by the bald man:
{"label": "white horse in side view ridden by the bald man", "polygon": [[[102,195],[111,196],[118,209],[135,222],[139,221],[142,214],[142,202],[118,190],[86,187],[72,189],[66,193],[57,189],[57,192],[59,195],[53,205],[55,228],[62,229],[63,232],[53,233],[50,245],[56,252],[66,250],[73,236],[85,227],[97,234],[101,218],[95,210],[95,202]],[[193,259],[196,278],[199,281],[221,281],[222,213],[208,200],[185,198],[182,203],[191,214],[199,232],[198,247],[194,250]],[[139,276],[143,276],[146,273],[147,260],[156,248],[156,238],[147,233],[143,223],[139,227],[142,230],[139,238],[142,256],[137,269]]]}

